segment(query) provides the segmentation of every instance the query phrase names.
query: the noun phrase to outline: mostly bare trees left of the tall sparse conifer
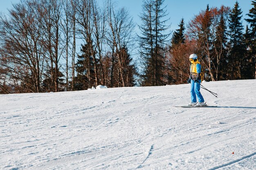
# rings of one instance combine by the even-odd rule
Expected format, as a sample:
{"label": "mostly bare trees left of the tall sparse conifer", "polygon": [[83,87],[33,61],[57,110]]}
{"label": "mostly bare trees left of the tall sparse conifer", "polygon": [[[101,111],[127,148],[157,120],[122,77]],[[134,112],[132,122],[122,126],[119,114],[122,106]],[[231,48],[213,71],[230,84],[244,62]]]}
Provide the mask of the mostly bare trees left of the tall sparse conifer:
{"label": "mostly bare trees left of the tall sparse conifer", "polygon": [[134,26],[111,0],[22,0],[0,15],[0,93],[134,86]]}

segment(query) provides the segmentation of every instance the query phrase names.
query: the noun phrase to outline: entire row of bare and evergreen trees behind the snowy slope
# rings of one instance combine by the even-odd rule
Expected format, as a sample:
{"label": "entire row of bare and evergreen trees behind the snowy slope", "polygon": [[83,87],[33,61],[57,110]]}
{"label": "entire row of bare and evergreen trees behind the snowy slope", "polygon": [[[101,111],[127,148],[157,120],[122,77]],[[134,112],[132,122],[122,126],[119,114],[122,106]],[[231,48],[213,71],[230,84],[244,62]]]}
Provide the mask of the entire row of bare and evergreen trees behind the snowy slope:
{"label": "entire row of bare and evergreen trees behind the snowy slope", "polygon": [[164,0],[143,0],[135,34],[127,9],[111,0],[22,0],[0,15],[0,93],[182,84],[191,53],[209,81],[254,79],[256,1],[245,32],[241,13],[238,2],[207,6],[171,35]]}

